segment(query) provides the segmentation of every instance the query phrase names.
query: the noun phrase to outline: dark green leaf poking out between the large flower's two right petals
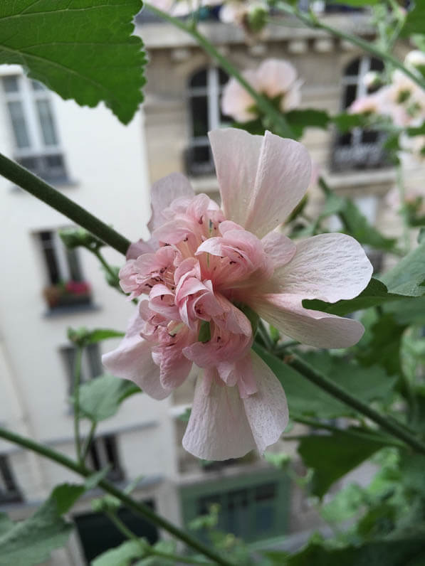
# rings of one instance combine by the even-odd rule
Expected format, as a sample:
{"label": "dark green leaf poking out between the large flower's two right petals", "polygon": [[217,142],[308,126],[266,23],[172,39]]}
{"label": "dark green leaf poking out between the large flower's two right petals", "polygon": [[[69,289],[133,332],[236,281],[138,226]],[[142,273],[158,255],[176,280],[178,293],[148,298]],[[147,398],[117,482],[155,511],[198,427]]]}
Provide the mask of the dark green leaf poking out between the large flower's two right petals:
{"label": "dark green leaf poking out between the large flower's two right petals", "polygon": [[337,301],[336,303],[327,303],[319,299],[304,299],[303,306],[305,309],[313,309],[313,311],[345,316],[355,311],[368,309],[370,306],[378,306],[389,301],[399,301],[403,298],[404,295],[389,293],[384,283],[372,277],[366,289],[354,299]]}

